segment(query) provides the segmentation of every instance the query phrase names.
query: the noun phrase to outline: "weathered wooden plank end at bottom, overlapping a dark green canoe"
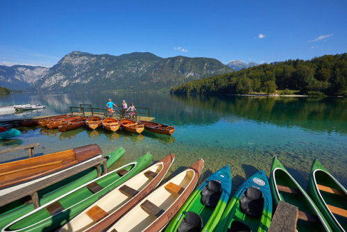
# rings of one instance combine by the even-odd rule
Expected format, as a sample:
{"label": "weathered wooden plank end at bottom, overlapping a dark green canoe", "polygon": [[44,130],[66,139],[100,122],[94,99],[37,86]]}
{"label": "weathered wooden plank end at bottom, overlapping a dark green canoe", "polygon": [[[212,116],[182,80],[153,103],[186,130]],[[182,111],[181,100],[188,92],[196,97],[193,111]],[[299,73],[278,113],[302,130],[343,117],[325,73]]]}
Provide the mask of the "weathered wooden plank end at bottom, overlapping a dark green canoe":
{"label": "weathered wooden plank end at bottom, overlapping a dark green canoe", "polygon": [[280,201],[269,226],[269,232],[296,232],[297,221],[298,207]]}

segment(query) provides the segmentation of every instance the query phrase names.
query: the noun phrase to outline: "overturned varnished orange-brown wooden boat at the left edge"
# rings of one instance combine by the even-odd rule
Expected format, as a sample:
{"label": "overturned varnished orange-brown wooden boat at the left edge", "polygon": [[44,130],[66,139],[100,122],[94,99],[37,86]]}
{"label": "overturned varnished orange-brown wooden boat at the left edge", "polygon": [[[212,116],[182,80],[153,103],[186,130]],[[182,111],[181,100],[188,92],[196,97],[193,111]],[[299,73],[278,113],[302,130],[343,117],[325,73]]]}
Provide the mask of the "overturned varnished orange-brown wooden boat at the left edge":
{"label": "overturned varnished orange-brown wooden boat at the left edge", "polygon": [[94,156],[101,156],[101,149],[96,144],[90,144],[44,156],[1,163],[0,189],[9,188],[12,185],[26,181],[33,181],[33,179],[58,172]]}

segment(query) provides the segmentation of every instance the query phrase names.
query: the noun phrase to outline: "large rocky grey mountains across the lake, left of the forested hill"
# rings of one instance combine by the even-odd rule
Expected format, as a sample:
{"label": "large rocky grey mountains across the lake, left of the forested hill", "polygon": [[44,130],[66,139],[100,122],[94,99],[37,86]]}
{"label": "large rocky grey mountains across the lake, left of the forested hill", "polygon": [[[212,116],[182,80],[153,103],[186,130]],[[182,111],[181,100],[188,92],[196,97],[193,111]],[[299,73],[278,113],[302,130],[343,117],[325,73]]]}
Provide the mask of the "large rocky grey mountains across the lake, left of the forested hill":
{"label": "large rocky grey mountains across the lake, left of the forested hill", "polygon": [[111,56],[73,51],[51,68],[0,65],[0,86],[37,92],[158,92],[232,71],[212,58],[160,58],[148,52]]}

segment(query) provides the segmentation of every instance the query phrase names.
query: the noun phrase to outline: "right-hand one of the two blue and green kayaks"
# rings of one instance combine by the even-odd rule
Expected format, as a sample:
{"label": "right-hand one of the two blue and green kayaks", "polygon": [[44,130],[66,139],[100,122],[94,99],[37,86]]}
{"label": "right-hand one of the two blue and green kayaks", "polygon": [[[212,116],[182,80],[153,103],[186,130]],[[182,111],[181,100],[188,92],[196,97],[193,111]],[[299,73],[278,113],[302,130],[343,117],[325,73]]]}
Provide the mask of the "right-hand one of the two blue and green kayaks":
{"label": "right-hand one of the two blue and green kayaks", "polygon": [[215,231],[267,231],[272,218],[269,181],[260,170],[230,199]]}

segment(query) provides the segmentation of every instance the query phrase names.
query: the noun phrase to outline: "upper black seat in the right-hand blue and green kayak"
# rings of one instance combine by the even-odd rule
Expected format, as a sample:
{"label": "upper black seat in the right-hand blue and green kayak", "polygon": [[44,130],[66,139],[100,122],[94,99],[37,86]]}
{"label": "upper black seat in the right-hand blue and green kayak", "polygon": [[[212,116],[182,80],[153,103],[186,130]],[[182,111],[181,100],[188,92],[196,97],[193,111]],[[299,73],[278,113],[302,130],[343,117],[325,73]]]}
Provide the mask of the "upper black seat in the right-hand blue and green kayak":
{"label": "upper black seat in the right-hand blue and green kayak", "polygon": [[243,213],[251,217],[259,217],[262,215],[264,208],[264,197],[262,191],[249,187],[240,200],[240,208]]}

